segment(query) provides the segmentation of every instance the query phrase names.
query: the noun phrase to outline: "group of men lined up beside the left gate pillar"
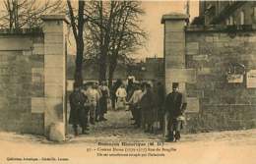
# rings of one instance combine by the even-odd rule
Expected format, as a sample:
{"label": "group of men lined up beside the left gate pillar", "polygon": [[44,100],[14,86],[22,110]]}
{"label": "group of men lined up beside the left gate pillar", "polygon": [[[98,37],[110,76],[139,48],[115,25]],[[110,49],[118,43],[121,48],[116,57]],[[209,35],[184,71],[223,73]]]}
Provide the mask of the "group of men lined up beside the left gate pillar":
{"label": "group of men lined up beside the left gate pillar", "polygon": [[75,136],[78,136],[78,126],[82,134],[88,134],[89,123],[106,121],[109,89],[106,82],[87,82],[83,86],[74,83],[74,90],[69,96],[69,123],[73,126]]}

